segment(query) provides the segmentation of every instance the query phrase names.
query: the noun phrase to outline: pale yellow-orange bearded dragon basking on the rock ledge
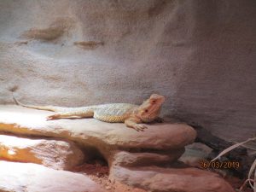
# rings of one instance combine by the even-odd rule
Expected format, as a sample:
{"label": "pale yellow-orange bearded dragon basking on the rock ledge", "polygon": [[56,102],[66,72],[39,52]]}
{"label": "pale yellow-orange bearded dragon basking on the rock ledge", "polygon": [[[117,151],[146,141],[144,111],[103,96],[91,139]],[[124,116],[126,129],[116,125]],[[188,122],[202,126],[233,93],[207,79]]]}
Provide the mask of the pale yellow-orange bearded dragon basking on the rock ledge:
{"label": "pale yellow-orange bearded dragon basking on the rock ledge", "polygon": [[94,118],[108,123],[125,123],[127,127],[133,128],[136,131],[144,131],[144,129],[148,128],[146,125],[141,125],[142,123],[160,120],[160,108],[166,100],[165,96],[152,94],[141,105],[110,103],[79,108],[63,108],[57,106],[27,105],[17,101],[15,96],[13,97],[16,104],[20,106],[56,112],[53,115],[49,115],[47,120],[73,117]]}

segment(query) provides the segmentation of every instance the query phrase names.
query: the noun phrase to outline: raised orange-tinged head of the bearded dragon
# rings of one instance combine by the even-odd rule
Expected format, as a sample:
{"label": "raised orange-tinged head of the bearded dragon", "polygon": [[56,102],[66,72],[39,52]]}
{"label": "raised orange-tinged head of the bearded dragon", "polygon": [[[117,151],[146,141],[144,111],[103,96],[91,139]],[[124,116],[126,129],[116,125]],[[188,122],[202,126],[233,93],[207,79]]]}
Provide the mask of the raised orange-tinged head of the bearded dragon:
{"label": "raised orange-tinged head of the bearded dragon", "polygon": [[143,122],[150,122],[156,119],[160,113],[160,108],[163,102],[165,102],[165,96],[152,94],[148,100],[138,108],[137,116],[143,120]]}

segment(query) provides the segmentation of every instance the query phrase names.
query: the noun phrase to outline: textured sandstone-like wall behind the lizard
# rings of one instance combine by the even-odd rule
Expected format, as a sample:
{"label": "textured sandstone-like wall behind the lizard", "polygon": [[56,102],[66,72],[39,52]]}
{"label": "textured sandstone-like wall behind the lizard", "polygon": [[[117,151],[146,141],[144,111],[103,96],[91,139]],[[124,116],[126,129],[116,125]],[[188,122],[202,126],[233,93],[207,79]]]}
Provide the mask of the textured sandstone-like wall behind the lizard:
{"label": "textured sandstone-like wall behind the lizard", "polygon": [[0,102],[167,100],[227,139],[256,124],[256,1],[0,1]]}

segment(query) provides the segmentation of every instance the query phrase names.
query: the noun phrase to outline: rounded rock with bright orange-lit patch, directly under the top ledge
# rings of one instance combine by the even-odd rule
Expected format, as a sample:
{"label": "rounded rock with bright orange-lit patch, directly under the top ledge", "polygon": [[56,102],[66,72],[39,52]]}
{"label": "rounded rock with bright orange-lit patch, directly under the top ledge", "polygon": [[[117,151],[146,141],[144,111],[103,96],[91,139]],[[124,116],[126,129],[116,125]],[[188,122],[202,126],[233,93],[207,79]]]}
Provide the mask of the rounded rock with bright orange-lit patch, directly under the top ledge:
{"label": "rounded rock with bright orange-lit patch, directly under the top ledge", "polygon": [[0,135],[0,159],[70,170],[83,162],[84,154],[70,142]]}

